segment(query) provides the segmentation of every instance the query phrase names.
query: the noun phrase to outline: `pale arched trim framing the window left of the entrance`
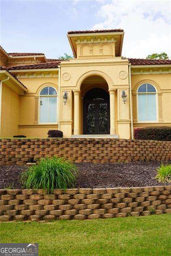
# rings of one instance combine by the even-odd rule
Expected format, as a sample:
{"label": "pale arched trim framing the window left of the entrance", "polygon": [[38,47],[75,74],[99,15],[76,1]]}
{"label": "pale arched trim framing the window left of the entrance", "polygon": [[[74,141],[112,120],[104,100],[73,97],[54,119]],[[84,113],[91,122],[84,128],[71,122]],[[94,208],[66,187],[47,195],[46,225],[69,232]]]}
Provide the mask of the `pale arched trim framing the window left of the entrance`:
{"label": "pale arched trim framing the window left of the entrance", "polygon": [[[56,95],[40,95],[41,91],[45,87],[52,87],[56,91]],[[56,97],[56,122],[41,122],[41,113],[40,113],[40,106],[41,106],[41,97],[48,97],[48,116],[49,116],[49,97]],[[38,97],[38,124],[39,125],[58,125],[58,91],[55,87],[51,85],[46,85],[43,88],[41,88],[39,92],[39,97]]]}

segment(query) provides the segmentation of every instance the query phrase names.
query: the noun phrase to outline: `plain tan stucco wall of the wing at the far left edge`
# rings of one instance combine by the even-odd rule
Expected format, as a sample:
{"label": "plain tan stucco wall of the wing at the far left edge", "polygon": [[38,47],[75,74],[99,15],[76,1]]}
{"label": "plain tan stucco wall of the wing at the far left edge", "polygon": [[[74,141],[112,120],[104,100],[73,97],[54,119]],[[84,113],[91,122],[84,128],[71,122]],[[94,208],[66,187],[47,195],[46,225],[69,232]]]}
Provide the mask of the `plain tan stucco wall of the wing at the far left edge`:
{"label": "plain tan stucco wall of the wing at the far left edge", "polygon": [[19,95],[3,83],[0,137],[18,135]]}

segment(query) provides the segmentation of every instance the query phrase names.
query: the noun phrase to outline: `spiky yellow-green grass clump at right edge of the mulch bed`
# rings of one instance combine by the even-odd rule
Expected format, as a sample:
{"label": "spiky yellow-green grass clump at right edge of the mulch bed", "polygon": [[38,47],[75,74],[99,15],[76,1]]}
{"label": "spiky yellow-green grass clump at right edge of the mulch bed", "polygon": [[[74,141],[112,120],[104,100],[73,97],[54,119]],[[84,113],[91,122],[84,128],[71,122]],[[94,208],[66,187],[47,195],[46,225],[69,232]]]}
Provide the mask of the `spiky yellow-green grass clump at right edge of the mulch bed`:
{"label": "spiky yellow-green grass clump at right edge of the mulch bed", "polygon": [[171,164],[161,164],[157,168],[156,180],[161,183],[171,183]]}

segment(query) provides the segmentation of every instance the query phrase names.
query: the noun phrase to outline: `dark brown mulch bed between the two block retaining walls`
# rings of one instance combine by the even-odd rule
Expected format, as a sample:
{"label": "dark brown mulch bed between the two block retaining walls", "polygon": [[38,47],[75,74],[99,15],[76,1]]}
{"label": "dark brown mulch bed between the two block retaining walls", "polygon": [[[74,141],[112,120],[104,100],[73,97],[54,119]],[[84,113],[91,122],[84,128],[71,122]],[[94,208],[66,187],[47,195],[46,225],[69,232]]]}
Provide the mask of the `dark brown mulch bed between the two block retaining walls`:
{"label": "dark brown mulch bed between the two block retaining walls", "polygon": [[[157,183],[156,169],[161,162],[130,163],[77,163],[76,187],[137,187],[169,185]],[[163,162],[166,163],[166,162]],[[171,163],[171,161],[169,162]],[[19,175],[26,166],[0,166],[0,189],[12,187],[20,189]]]}

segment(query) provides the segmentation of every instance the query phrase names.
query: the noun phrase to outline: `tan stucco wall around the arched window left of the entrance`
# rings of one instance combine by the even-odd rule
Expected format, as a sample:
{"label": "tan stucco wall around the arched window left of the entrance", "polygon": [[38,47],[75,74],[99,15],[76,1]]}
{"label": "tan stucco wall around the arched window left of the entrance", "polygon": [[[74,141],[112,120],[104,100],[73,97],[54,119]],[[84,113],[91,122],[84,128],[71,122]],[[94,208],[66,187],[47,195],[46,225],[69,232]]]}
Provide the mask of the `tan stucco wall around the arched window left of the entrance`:
{"label": "tan stucco wall around the arched window left of the entrance", "polygon": [[58,129],[56,125],[38,124],[38,96],[45,86],[52,86],[58,91],[58,77],[20,78],[28,92],[20,96],[19,133],[27,137],[47,137],[47,132]]}

